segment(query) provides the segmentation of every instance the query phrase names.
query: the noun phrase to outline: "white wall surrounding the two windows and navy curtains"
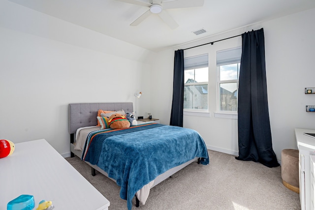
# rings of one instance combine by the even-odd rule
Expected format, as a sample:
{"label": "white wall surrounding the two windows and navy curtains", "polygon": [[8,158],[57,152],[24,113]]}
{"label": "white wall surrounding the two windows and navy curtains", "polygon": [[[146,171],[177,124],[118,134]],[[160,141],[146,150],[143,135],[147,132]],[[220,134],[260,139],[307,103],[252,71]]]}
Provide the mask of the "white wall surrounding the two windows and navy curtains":
{"label": "white wall surrounding the two windows and navy curtains", "polygon": [[[315,94],[304,94],[304,88],[315,87],[314,49],[315,49],[315,9],[231,30],[207,39],[188,43],[174,49],[158,53],[153,61],[151,78],[155,79],[152,90],[152,113],[156,113],[162,123],[169,123],[172,104],[172,80],[174,51],[191,46],[220,40],[249,30],[264,28],[266,74],[269,101],[270,124],[273,149],[278,160],[286,148],[297,149],[294,128],[315,129],[315,113],[307,113],[305,105],[315,105]],[[214,45],[193,48],[184,52],[185,56],[209,52],[209,95],[215,94],[217,86],[213,83],[215,75],[215,52],[224,48],[241,45],[241,38],[232,38]],[[211,117],[184,116],[184,127],[197,130],[209,149],[230,154],[238,154],[237,120],[215,118],[216,96],[209,100]]]}

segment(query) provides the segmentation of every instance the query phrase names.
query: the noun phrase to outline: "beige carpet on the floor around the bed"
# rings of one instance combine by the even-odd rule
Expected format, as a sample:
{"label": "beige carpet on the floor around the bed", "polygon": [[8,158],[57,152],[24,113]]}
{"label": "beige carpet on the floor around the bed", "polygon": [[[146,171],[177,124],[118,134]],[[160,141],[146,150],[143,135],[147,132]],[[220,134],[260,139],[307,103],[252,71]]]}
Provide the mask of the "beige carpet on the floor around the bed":
{"label": "beige carpet on the floor around the bed", "polygon": [[[209,150],[208,166],[192,163],[151,189],[147,203],[132,210],[299,210],[299,194],[284,187],[281,167]],[[120,187],[78,157],[65,158],[109,201],[109,210],[126,210]]]}

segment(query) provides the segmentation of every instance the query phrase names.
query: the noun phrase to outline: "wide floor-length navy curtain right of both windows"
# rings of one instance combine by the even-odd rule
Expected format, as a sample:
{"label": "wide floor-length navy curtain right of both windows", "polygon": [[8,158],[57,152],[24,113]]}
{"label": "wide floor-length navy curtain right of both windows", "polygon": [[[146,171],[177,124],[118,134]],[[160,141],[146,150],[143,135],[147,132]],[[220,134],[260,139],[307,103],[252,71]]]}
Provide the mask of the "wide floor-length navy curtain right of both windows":
{"label": "wide floor-length navy curtain right of both windows", "polygon": [[277,167],[268,111],[263,29],[242,34],[238,92],[238,160]]}

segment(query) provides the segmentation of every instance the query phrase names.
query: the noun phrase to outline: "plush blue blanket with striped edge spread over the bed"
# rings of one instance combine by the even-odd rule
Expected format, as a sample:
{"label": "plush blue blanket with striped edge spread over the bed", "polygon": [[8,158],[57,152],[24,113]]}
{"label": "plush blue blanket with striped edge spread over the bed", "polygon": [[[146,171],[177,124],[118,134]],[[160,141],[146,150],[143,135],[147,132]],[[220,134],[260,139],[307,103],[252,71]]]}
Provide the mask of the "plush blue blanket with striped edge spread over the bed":
{"label": "plush blue blanket with striped edge spread over the bed", "polygon": [[209,164],[206,145],[197,131],[157,123],[92,132],[82,155],[116,180],[128,210],[144,185],[195,157]]}

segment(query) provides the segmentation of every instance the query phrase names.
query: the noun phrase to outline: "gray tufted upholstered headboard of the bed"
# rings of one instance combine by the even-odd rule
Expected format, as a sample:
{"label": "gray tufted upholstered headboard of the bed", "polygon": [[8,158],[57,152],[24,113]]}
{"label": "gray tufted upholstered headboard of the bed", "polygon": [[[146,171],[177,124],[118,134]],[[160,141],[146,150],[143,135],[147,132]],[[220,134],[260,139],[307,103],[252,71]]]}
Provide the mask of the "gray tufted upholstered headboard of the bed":
{"label": "gray tufted upholstered headboard of the bed", "polygon": [[97,124],[97,111],[119,111],[133,112],[132,102],[118,103],[74,103],[69,104],[68,109],[68,131],[73,134],[80,127],[93,126]]}

